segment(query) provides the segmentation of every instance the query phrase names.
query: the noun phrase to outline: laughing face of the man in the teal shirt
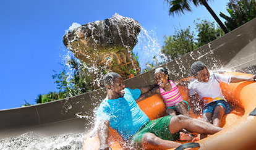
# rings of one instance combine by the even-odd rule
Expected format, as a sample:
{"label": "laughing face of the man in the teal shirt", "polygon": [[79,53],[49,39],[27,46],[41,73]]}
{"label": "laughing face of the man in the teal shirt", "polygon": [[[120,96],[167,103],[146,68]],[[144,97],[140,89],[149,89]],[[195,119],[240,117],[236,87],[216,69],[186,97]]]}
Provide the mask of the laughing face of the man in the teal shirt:
{"label": "laughing face of the man in the teal shirt", "polygon": [[113,86],[111,86],[111,97],[113,99],[122,98],[124,97],[124,88],[126,86],[124,85],[124,81],[122,80],[122,77],[116,77],[113,80]]}

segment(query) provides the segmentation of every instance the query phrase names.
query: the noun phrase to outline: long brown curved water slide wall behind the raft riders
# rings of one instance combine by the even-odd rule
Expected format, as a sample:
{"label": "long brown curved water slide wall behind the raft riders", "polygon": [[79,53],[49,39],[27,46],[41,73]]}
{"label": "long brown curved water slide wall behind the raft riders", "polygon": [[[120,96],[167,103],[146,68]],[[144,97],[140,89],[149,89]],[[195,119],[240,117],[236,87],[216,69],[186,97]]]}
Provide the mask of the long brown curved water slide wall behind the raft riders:
{"label": "long brown curved water slide wall behind the raft riders", "polygon": [[[195,60],[202,60],[211,70],[256,73],[256,19],[164,66],[171,70],[172,79],[179,79],[191,76],[189,68]],[[125,80],[125,84],[137,88],[153,81],[151,70]],[[0,140],[28,131],[53,136],[90,130],[95,108],[105,94],[98,89],[59,101],[0,110]]]}

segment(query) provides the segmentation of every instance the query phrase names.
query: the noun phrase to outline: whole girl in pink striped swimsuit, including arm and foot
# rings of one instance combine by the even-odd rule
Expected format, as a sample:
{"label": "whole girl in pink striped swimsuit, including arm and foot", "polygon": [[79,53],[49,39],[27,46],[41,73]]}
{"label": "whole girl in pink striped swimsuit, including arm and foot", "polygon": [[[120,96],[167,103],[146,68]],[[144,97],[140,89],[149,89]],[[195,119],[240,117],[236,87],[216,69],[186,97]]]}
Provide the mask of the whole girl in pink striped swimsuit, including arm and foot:
{"label": "whole girl in pink striped swimsuit, including arm and foot", "polygon": [[[182,114],[190,117],[189,115],[189,105],[181,97],[179,88],[169,80],[169,70],[163,67],[159,67],[154,71],[155,82],[159,87],[154,88],[150,92],[140,96],[142,101],[145,98],[153,96],[153,94],[160,94],[166,104],[166,113],[168,115]],[[181,83],[179,83],[180,85]],[[138,99],[137,99],[138,101]],[[180,141],[198,141],[199,138],[194,137],[192,133],[186,130],[181,130],[179,132]]]}

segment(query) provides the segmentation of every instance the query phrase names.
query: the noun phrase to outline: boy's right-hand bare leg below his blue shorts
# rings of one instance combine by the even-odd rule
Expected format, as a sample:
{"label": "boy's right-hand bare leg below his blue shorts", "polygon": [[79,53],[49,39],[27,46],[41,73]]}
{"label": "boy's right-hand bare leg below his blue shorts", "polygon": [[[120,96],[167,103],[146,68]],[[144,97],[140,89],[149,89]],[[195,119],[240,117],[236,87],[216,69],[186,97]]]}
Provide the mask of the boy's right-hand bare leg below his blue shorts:
{"label": "boy's right-hand bare leg below his blue shorts", "polygon": [[215,125],[216,127],[221,127],[221,119],[223,117],[223,115],[225,114],[225,109],[223,106],[216,106],[214,111],[213,111],[213,125]]}

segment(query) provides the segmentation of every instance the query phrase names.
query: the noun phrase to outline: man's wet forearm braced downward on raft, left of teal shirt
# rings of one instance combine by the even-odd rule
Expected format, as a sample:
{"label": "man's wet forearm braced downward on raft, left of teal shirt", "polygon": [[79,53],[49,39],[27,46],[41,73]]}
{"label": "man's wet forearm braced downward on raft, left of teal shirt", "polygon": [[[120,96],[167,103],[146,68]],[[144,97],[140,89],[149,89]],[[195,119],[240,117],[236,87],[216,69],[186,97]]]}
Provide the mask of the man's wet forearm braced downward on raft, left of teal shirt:
{"label": "man's wet forearm braced downward on raft, left of teal shirt", "polygon": [[109,121],[102,120],[98,124],[98,138],[100,140],[100,150],[111,149],[108,145],[108,136],[109,136]]}

